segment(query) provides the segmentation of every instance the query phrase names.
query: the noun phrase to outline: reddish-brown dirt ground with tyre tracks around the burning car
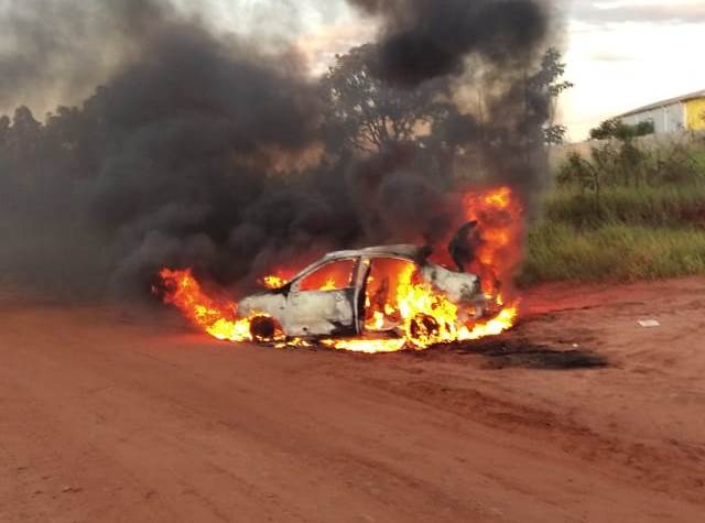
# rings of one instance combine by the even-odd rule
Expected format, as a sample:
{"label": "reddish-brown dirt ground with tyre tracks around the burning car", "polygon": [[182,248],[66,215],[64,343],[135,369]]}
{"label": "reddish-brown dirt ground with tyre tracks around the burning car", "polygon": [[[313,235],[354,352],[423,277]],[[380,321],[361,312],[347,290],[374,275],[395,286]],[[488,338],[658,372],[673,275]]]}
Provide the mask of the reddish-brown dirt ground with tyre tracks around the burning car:
{"label": "reddish-brown dirt ground with tyre tracks around the burning car", "polygon": [[4,293],[0,521],[704,521],[705,279],[525,310],[365,357]]}

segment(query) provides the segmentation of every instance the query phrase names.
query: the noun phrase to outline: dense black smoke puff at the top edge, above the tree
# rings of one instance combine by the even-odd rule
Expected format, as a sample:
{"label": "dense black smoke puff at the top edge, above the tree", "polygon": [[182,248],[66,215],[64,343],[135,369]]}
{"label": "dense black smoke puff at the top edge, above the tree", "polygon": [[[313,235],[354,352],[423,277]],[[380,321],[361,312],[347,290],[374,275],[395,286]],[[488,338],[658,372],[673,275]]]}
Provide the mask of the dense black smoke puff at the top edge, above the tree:
{"label": "dense black smoke puff at the top edge, above the tree", "polygon": [[525,59],[547,31],[535,0],[351,0],[382,17],[378,73],[415,86],[464,70],[469,53],[492,62]]}

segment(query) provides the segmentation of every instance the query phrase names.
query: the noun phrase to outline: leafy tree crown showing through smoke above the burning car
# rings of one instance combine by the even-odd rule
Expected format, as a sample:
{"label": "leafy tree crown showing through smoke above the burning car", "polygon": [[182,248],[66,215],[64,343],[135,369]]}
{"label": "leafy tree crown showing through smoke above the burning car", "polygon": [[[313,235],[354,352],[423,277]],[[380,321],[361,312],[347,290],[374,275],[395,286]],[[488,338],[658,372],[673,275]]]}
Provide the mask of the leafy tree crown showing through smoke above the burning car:
{"label": "leafy tree crown showing through smoke above the burning car", "polygon": [[443,88],[433,81],[415,89],[390,87],[372,74],[372,44],[336,56],[322,84],[329,101],[327,123],[358,151],[416,142],[445,108]]}

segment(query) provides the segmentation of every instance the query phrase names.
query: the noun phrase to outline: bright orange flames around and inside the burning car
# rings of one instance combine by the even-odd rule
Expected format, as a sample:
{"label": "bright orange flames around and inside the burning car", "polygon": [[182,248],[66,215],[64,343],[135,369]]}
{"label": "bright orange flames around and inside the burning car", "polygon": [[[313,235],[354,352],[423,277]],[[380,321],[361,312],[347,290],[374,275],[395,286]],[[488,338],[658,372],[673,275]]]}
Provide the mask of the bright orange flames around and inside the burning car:
{"label": "bright orange flames around and inside the burning car", "polygon": [[[366,335],[361,339],[324,339],[324,347],[354,352],[397,352],[405,348],[423,350],[440,344],[468,341],[497,336],[511,328],[519,313],[519,301],[508,299],[501,281],[516,266],[521,249],[521,207],[508,187],[463,197],[465,218],[478,221],[478,243],[470,271],[482,281],[482,292],[491,304],[489,318],[475,320],[474,309],[463,309],[443,293],[424,282],[410,262],[391,260],[370,274],[366,286]],[[176,306],[194,325],[220,340],[253,341],[251,325],[263,318],[240,318],[237,304],[217,299],[204,292],[191,270],[160,272],[164,301]],[[314,288],[339,288],[337,275],[312,282]],[[286,284],[283,272],[264,276],[260,282],[269,288]],[[307,288],[312,290],[312,288]],[[390,328],[390,326],[392,328]],[[376,333],[378,335],[376,335]],[[382,333],[387,337],[381,337]],[[394,333],[394,337],[389,337]],[[276,347],[312,347],[310,341],[286,339],[276,329],[269,336]]]}

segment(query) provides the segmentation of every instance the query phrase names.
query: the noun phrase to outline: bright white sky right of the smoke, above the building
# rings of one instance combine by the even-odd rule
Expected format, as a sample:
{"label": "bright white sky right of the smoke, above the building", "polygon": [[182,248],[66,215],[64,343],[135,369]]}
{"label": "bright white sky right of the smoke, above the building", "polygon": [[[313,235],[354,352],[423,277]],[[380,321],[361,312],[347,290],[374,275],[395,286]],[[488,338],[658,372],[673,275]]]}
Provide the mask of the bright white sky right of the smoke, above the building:
{"label": "bright white sky right of the smoke, above the building", "polygon": [[564,2],[568,15],[563,100],[571,139],[601,119],[705,89],[704,0]]}

